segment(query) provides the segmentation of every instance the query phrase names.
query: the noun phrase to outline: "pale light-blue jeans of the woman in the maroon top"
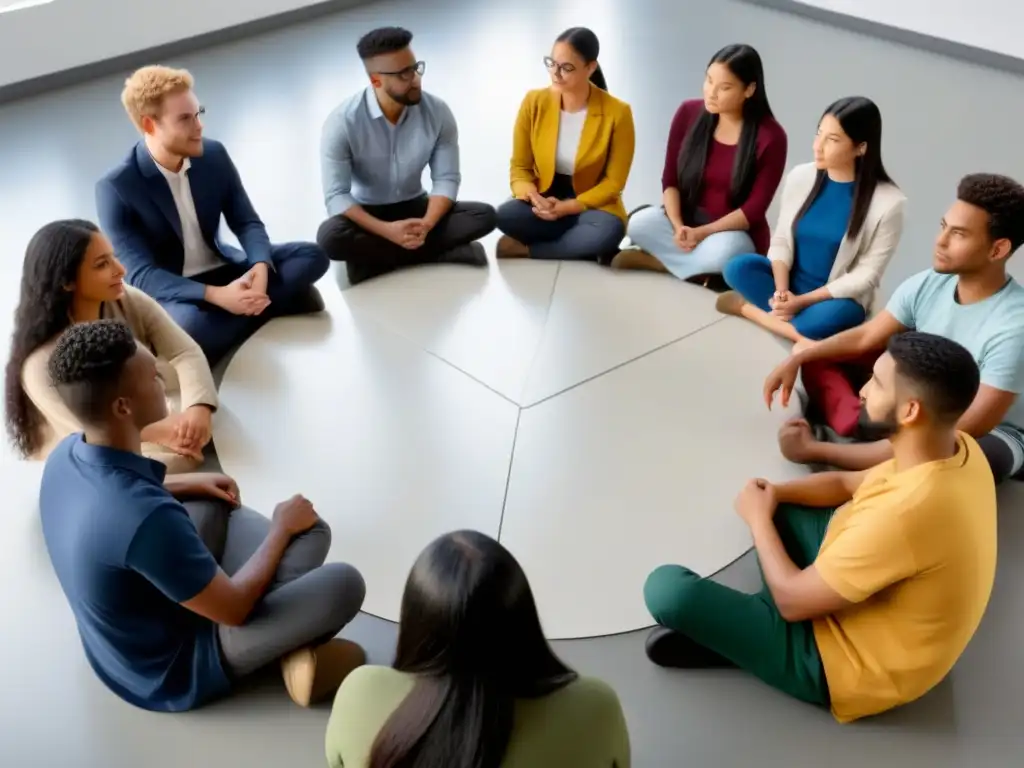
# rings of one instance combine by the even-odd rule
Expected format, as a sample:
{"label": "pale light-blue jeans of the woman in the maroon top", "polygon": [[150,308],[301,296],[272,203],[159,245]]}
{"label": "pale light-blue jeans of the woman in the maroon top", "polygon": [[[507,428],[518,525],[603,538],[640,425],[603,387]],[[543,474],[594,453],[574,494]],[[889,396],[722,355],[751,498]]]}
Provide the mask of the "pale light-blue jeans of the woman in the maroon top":
{"label": "pale light-blue jeans of the woman in the maroon top", "polygon": [[633,245],[660,261],[680,280],[697,274],[721,274],[733,256],[754,250],[751,236],[734,229],[705,238],[689,253],[682,251],[673,240],[675,230],[662,206],[651,206],[634,213],[626,234]]}

